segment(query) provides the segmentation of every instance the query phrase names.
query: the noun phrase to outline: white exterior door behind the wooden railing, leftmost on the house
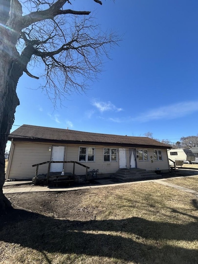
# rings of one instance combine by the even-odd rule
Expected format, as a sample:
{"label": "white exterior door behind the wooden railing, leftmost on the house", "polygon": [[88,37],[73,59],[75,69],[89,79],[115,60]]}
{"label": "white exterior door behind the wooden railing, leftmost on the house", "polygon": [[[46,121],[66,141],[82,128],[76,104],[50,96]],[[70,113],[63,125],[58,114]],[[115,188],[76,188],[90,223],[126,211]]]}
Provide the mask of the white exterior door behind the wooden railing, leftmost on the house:
{"label": "white exterior door behind the wooden railing, leftmost on the house", "polygon": [[[65,146],[53,146],[51,161],[64,161]],[[51,163],[50,172],[61,172],[64,163]]]}

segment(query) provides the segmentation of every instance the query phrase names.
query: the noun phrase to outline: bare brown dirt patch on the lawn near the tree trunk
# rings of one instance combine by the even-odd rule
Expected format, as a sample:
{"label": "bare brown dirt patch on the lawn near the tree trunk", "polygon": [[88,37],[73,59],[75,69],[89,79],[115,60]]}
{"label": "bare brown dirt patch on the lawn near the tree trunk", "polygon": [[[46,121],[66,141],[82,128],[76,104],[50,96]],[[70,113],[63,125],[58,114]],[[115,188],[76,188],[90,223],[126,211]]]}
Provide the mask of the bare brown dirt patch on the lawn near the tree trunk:
{"label": "bare brown dirt patch on the lawn near the tree trunk", "polygon": [[46,216],[93,220],[97,214],[97,208],[79,206],[84,200],[86,190],[71,192],[33,192],[6,194],[6,197],[15,205]]}

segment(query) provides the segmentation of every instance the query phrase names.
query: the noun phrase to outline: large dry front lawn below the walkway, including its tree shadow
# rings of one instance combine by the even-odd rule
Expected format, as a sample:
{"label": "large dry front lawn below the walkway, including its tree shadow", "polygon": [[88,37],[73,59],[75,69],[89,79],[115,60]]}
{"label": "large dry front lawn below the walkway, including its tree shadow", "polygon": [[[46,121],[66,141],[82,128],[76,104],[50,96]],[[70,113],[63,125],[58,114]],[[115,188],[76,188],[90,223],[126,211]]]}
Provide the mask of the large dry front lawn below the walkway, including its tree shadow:
{"label": "large dry front lawn below the walkway, including its tree shadow", "polygon": [[198,202],[157,183],[7,194],[0,263],[197,263]]}

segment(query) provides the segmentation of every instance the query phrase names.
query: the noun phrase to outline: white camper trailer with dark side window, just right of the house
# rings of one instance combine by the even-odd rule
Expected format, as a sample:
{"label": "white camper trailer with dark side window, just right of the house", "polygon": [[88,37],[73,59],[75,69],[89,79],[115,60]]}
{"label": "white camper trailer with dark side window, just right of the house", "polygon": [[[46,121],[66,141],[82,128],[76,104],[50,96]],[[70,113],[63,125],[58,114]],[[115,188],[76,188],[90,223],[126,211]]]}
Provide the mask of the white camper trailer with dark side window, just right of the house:
{"label": "white camper trailer with dark side window, just right of the house", "polygon": [[[168,158],[169,158],[169,164],[173,165],[172,161],[181,160],[185,163],[185,161],[191,163],[192,161],[195,161],[195,154],[192,153],[191,149],[170,149],[167,151]],[[170,159],[172,161],[170,161]]]}

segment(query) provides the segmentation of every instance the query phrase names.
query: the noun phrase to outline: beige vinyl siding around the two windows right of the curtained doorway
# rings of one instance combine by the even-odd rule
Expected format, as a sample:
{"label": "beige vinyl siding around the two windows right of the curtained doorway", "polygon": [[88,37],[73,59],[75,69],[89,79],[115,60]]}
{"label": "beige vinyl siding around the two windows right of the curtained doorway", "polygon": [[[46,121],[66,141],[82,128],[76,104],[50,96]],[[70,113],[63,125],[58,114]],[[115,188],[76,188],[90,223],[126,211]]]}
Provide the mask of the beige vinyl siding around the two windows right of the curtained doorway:
{"label": "beige vinyl siding around the two windows right of the curtained doorway", "polygon": [[[140,148],[142,149],[142,148]],[[144,148],[145,149],[145,148]],[[160,149],[160,148],[158,148]],[[167,158],[166,149],[160,149],[162,152],[162,159],[163,160],[154,160],[154,154],[153,149],[147,149],[148,150],[148,161],[139,161],[137,158],[137,167],[140,169],[146,169],[147,171],[153,171],[159,168],[159,170],[169,170],[169,162]],[[138,149],[137,149],[138,151]],[[153,158],[151,158],[151,156]],[[151,162],[153,160],[153,162]]]}

